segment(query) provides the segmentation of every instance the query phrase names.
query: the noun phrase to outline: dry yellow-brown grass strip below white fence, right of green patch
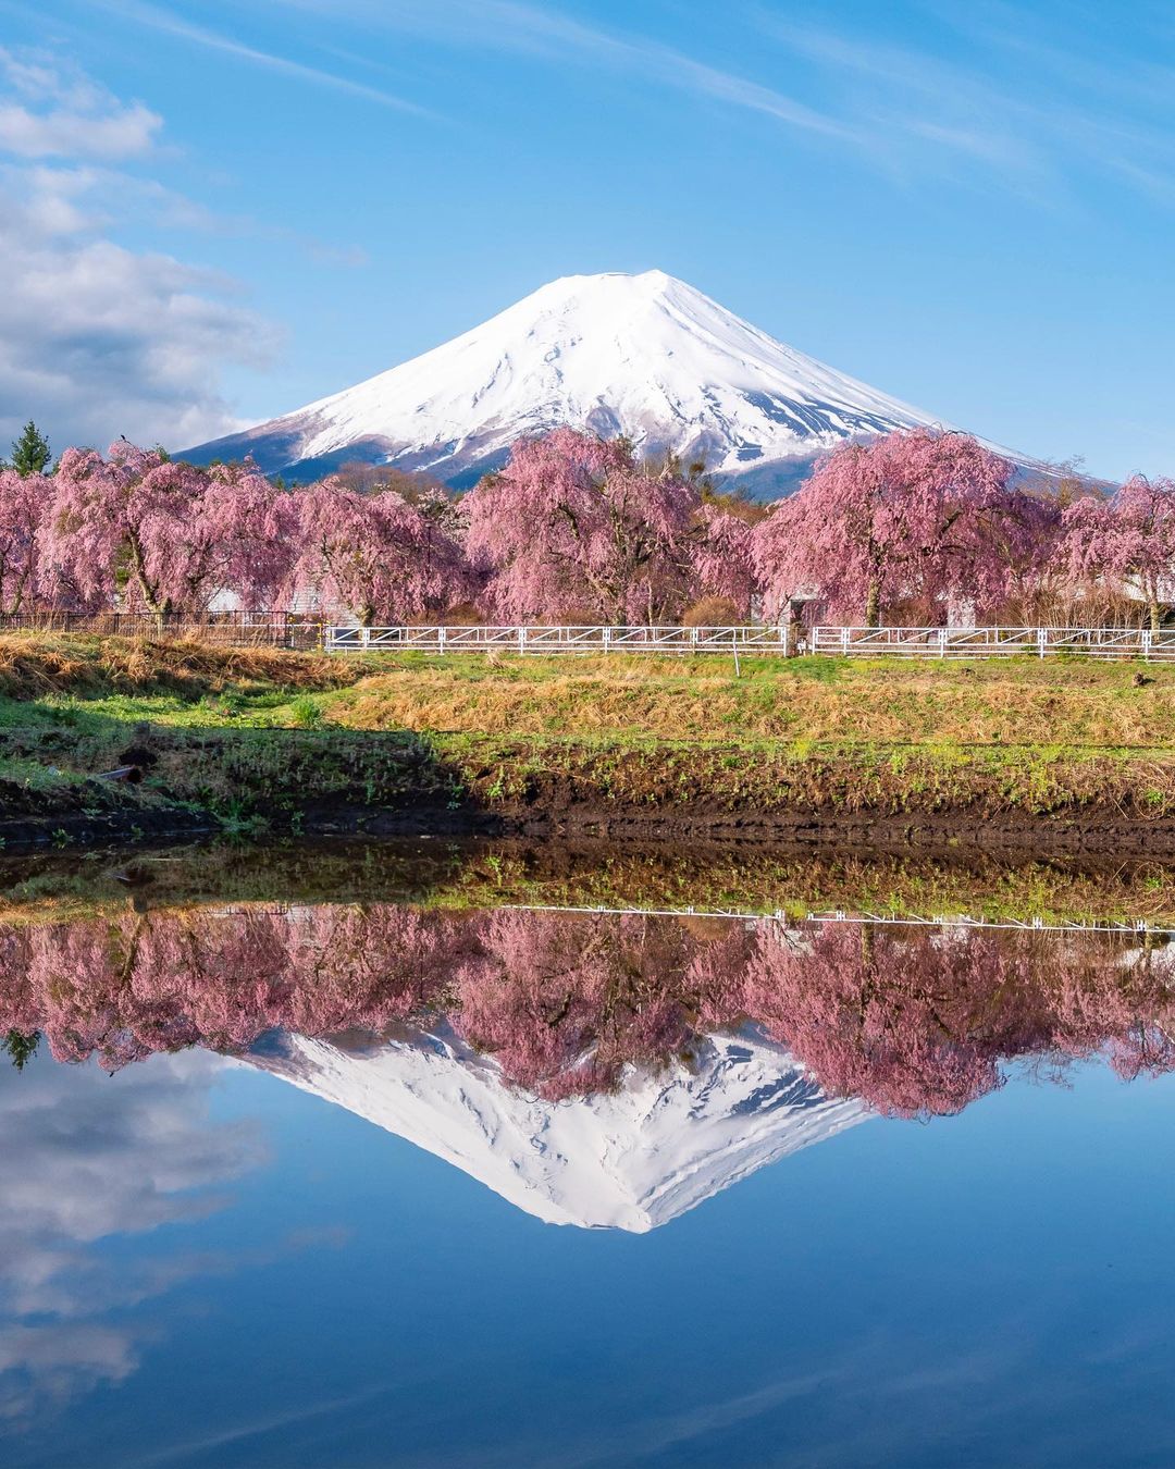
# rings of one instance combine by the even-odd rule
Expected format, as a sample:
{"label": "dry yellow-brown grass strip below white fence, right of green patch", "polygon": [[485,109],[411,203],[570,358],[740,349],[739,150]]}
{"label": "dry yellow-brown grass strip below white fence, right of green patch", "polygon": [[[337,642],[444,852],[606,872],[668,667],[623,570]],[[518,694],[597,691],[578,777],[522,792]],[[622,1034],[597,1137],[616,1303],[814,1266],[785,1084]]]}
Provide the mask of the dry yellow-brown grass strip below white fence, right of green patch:
{"label": "dry yellow-brown grass strip below white fence, right of green patch", "polygon": [[659,739],[870,740],[1162,749],[1175,668],[1080,663],[840,664],[828,677],[714,665],[433,664],[361,679],[329,704],[351,729]]}

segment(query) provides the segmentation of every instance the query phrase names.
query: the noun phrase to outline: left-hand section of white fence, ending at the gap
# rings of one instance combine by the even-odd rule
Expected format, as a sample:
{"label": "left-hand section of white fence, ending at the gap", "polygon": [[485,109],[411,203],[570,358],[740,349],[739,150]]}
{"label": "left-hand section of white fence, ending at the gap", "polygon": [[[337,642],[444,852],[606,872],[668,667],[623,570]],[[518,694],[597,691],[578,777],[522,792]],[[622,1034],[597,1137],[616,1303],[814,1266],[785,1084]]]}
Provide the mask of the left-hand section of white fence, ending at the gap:
{"label": "left-hand section of white fence, ending at the gap", "polygon": [[332,652],[659,652],[790,654],[787,626],[771,627],[328,627]]}

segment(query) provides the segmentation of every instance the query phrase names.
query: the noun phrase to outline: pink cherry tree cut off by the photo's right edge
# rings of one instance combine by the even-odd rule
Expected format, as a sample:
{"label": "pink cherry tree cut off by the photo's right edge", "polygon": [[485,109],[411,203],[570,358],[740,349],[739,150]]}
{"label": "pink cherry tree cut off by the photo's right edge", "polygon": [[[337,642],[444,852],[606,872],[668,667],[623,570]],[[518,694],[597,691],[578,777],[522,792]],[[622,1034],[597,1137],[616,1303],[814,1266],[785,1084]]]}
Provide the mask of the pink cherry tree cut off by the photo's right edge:
{"label": "pink cherry tree cut off by the photo's right edge", "polygon": [[1157,633],[1175,599],[1175,480],[1135,474],[1110,501],[1077,499],[1063,532],[1058,555],[1069,579],[1140,595]]}

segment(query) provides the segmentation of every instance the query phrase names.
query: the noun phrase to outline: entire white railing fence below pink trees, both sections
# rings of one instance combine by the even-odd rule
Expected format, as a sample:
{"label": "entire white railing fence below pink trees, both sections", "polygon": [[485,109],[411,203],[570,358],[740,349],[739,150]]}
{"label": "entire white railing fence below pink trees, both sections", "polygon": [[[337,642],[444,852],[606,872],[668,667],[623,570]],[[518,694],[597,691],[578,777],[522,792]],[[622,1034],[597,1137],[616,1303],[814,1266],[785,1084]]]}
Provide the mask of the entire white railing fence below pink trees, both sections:
{"label": "entire white railing fence below pink trees, both sections", "polygon": [[1008,658],[1081,654],[1090,658],[1175,660],[1175,630],[1138,627],[330,627],[328,652],[520,654],[828,654],[899,658]]}

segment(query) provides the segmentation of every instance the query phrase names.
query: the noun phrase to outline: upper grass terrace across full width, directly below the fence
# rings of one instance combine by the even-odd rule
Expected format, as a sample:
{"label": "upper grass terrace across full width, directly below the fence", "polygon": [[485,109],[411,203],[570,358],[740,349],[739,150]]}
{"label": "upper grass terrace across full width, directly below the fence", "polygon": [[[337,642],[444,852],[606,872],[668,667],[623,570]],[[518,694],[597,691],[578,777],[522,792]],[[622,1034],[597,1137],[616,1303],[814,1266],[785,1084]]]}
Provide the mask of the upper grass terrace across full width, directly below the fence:
{"label": "upper grass terrace across full width, directly below the fence", "polygon": [[1008,658],[319,655],[0,638],[0,718],[730,740],[1175,749],[1175,665]]}

